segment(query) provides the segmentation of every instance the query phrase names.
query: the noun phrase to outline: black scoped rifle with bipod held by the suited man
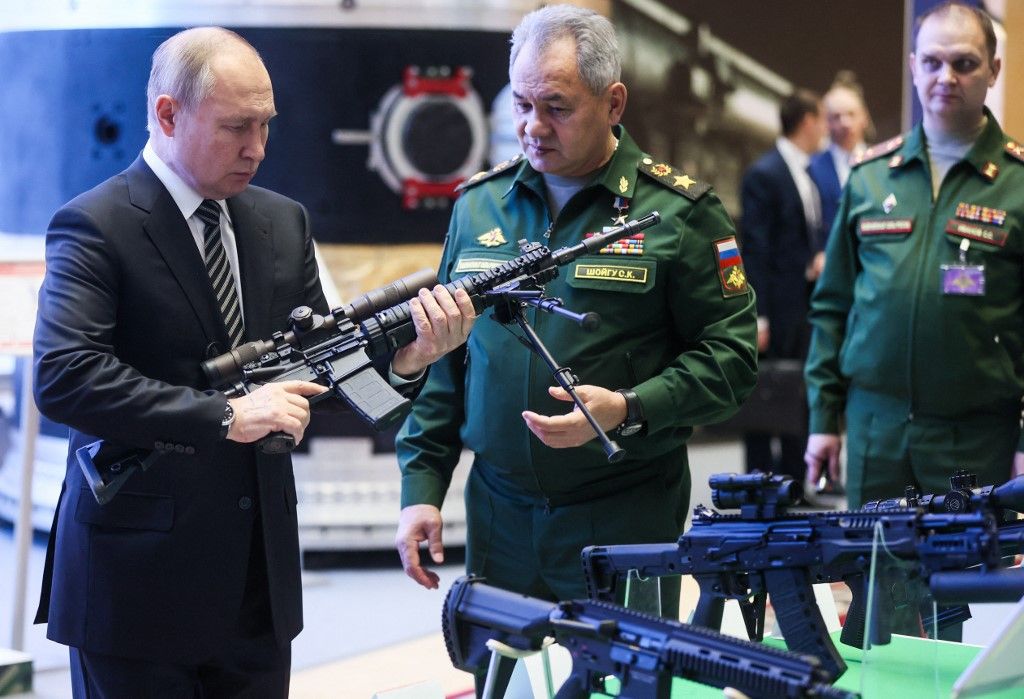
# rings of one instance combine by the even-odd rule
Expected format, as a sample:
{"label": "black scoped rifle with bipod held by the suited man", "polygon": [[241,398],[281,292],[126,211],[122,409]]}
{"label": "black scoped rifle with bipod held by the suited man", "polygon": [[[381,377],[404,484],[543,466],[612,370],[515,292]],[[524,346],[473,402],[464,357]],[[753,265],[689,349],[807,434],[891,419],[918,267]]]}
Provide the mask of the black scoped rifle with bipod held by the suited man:
{"label": "black scoped rifle with bipod held by the suited man", "polygon": [[[561,308],[558,299],[543,298],[544,285],[558,276],[558,267],[660,220],[656,211],[651,212],[555,251],[539,243],[521,241],[519,257],[452,281],[445,288],[453,294],[464,289],[477,314],[500,303],[516,307],[529,303],[592,326],[597,321],[594,313],[570,313]],[[203,362],[203,372],[210,386],[223,391],[228,398],[245,395],[270,382],[318,383],[331,390],[310,397],[310,404],[331,397],[341,398],[364,421],[377,430],[384,430],[402,420],[411,403],[377,373],[373,361],[387,357],[416,339],[408,299],[419,289],[434,282],[432,272],[417,272],[371,292],[355,303],[335,308],[327,315],[313,313],[308,306],[299,306],[292,311],[288,331],[279,331],[269,340],[248,342],[208,359]],[[577,379],[570,370],[558,368],[556,378],[577,399],[572,390]],[[578,404],[589,416],[586,406],[579,400]],[[595,424],[592,419],[591,422]],[[622,457],[624,452],[599,429],[598,436],[603,438],[609,460],[613,454]],[[291,435],[274,433],[260,441],[260,448],[267,453],[291,451],[295,448],[295,440]],[[89,487],[100,505],[110,501],[135,471],[145,471],[161,455],[160,450],[118,447],[102,440],[76,452]]]}

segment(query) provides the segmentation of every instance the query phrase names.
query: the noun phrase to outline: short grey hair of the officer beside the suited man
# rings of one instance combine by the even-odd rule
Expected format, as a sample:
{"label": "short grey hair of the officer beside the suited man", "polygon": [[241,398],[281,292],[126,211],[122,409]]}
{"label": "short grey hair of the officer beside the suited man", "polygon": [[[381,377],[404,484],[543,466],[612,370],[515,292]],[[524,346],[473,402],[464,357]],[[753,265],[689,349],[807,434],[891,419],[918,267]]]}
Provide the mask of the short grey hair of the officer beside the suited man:
{"label": "short grey hair of the officer beside the suited man", "polygon": [[618,82],[623,67],[614,27],[594,10],[575,5],[548,5],[524,16],[512,32],[509,72],[523,46],[530,44],[543,53],[565,38],[575,41],[580,80],[593,94]]}

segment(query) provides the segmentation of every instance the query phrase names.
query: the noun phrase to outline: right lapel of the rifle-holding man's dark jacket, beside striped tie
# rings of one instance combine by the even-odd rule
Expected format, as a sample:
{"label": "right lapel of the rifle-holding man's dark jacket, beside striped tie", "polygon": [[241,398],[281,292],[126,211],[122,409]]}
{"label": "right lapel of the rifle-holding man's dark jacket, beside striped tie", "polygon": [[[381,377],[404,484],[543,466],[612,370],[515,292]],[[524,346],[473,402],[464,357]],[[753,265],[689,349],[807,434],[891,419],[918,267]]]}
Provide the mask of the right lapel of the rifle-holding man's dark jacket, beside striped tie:
{"label": "right lapel of the rifle-holding man's dark jacket, beside striped tie", "polygon": [[256,210],[249,190],[227,200],[234,227],[242,275],[242,306],[246,340],[270,337],[270,298],[273,292],[273,242],[270,220]]}

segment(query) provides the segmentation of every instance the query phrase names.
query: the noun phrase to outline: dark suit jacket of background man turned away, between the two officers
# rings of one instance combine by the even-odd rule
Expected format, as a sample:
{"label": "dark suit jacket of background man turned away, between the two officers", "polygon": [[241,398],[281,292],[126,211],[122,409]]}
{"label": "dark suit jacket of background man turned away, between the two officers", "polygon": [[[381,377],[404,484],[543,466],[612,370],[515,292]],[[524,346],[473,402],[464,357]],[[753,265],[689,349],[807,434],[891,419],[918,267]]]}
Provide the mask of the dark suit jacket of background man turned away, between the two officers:
{"label": "dark suit jacket of background man turned away, between the two officers", "polygon": [[743,175],[743,262],[758,296],[758,315],[768,318],[770,352],[793,358],[805,352],[809,289],[806,268],[813,250],[804,205],[778,148]]}

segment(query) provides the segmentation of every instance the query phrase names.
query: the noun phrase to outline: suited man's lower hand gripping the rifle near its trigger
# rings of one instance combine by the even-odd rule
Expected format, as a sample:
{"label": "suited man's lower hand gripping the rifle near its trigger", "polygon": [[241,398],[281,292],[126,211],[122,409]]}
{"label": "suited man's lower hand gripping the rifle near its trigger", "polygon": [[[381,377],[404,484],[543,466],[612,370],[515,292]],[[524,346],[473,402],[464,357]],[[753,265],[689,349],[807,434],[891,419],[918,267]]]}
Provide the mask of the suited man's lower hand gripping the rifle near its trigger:
{"label": "suited man's lower hand gripping the rifle near its trigger", "polygon": [[227,438],[246,444],[271,432],[287,432],[298,444],[309,425],[306,396],[326,390],[326,386],[307,381],[282,381],[263,384],[252,393],[231,398],[227,402],[234,409],[234,422]]}

